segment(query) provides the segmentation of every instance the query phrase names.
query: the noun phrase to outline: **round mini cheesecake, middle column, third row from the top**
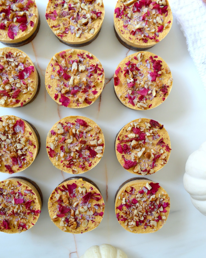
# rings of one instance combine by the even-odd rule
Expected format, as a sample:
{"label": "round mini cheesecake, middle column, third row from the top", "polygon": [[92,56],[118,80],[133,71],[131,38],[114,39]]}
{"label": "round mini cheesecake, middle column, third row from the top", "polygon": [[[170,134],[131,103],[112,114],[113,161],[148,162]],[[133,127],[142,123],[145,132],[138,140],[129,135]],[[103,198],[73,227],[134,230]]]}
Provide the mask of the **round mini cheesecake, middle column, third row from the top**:
{"label": "round mini cheesecake, middle column, third row from the top", "polygon": [[101,128],[83,116],[59,120],[48,132],[46,149],[52,164],[67,173],[81,174],[95,167],[105,147]]}

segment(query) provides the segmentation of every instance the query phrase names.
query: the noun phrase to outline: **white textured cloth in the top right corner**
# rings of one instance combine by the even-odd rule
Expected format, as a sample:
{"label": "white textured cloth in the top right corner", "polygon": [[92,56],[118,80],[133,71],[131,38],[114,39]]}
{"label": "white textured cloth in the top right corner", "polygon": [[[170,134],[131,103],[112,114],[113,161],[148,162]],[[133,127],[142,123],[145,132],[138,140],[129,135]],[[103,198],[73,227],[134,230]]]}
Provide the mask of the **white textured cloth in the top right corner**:
{"label": "white textured cloth in the top right corner", "polygon": [[169,4],[206,91],[206,3],[203,0],[169,0]]}

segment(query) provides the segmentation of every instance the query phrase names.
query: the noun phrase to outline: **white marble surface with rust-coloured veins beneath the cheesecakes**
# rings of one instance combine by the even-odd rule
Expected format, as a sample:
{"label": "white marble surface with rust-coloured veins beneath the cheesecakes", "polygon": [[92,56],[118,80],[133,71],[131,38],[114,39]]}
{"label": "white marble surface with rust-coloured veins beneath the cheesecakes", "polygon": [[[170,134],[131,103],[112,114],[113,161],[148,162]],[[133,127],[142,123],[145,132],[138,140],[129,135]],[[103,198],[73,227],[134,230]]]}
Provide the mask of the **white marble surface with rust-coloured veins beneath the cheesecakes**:
{"label": "white marble surface with rust-coloured veins beneath the cheesecakes", "polygon": [[[123,47],[113,31],[113,10],[116,1],[104,0],[105,18],[100,35],[83,47],[101,61],[105,71],[105,87],[94,104],[83,109],[69,109],[57,105],[48,95],[45,70],[52,56],[69,47],[59,42],[47,25],[47,0],[36,0],[41,25],[36,38],[19,47],[34,62],[41,77],[37,98],[26,107],[1,108],[0,115],[16,115],[37,128],[41,149],[34,163],[18,176],[34,180],[43,192],[44,203],[36,225],[21,234],[0,232],[0,257],[70,257],[78,258],[92,245],[112,244],[127,253],[128,258],[148,257],[205,257],[206,217],[190,201],[183,187],[185,163],[189,154],[205,141],[205,92],[187,51],[185,38],[176,21],[165,39],[150,51],[162,57],[174,78],[167,100],[148,111],[135,111],[124,107],[113,90],[113,74],[126,55],[134,53]],[[0,47],[4,47],[0,43]],[[105,136],[105,152],[100,163],[82,174],[100,188],[105,201],[105,214],[101,224],[93,231],[72,235],[59,230],[50,220],[47,201],[53,189],[70,176],[55,168],[46,153],[46,136],[52,125],[68,115],[82,115],[93,119]],[[125,180],[133,177],[118,163],[114,139],[122,126],[133,119],[145,117],[164,124],[171,139],[172,151],[168,164],[147,178],[159,182],[171,198],[171,209],[166,224],[155,233],[139,234],[125,231],[114,212],[114,195]],[[8,174],[0,173],[1,180]],[[91,257],[92,258],[92,257]]]}

